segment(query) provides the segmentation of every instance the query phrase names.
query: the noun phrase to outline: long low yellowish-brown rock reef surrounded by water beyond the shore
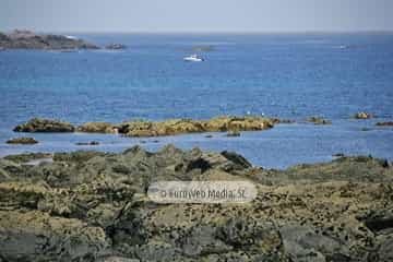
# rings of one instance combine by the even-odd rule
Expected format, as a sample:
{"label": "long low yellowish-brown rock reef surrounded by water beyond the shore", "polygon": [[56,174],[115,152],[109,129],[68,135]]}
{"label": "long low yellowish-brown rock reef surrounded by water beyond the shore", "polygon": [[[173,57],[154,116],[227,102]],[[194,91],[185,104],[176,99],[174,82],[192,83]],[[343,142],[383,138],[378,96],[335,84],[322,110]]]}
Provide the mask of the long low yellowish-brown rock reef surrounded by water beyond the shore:
{"label": "long low yellowish-brown rock reef surrounded by water beyond the shore", "polygon": [[69,122],[34,118],[14,128],[16,132],[94,132],[120,133],[124,136],[162,136],[182,133],[258,131],[274,127],[278,119],[263,117],[216,117],[209,120],[171,119],[160,122],[124,121],[118,124],[109,122],[87,122],[73,127]]}

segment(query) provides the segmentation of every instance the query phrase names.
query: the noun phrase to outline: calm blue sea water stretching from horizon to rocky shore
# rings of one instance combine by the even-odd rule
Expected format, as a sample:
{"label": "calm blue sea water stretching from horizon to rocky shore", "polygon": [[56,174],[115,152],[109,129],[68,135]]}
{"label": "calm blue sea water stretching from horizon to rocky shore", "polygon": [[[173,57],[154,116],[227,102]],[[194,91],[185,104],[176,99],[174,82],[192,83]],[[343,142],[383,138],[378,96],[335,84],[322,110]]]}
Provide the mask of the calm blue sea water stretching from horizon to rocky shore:
{"label": "calm blue sea water stretching from horizon to rocky shore", "polygon": [[[103,150],[140,144],[155,151],[230,150],[253,164],[284,168],[332,159],[332,154],[366,154],[393,159],[393,34],[85,34],[92,43],[121,43],[126,50],[48,52],[0,51],[0,155],[22,152]],[[182,57],[193,46],[201,63]],[[352,120],[358,111],[378,116]],[[28,134],[37,145],[8,145],[23,133],[12,128],[32,117],[80,124],[129,119],[206,119],[218,115],[264,115],[294,119],[240,138],[214,133],[158,139],[111,134]],[[332,126],[303,120],[324,117]],[[98,146],[75,142],[99,141]],[[155,140],[158,140],[155,141]]]}

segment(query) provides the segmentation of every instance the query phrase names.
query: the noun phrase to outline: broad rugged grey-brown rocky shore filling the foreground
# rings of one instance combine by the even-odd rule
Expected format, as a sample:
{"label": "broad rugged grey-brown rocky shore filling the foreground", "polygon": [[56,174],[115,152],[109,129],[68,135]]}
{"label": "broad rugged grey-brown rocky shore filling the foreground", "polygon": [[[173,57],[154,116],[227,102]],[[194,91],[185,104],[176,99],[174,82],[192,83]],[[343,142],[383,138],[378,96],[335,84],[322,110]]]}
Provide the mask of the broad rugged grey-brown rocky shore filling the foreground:
{"label": "broad rugged grey-brown rocky shore filling the foreground", "polygon": [[[37,157],[39,157],[37,155]],[[231,152],[0,159],[1,261],[392,261],[393,168],[343,156],[286,170]],[[248,204],[157,204],[163,180],[249,180]]]}

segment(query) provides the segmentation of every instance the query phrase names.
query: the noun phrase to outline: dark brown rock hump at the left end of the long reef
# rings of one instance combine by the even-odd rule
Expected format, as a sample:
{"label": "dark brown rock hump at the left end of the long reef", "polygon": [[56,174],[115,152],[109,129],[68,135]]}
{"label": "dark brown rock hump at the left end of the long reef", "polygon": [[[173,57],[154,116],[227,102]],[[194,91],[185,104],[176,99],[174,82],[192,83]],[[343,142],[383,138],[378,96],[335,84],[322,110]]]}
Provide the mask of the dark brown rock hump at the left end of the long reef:
{"label": "dark brown rock hump at the left end of the long reef", "polygon": [[16,126],[15,132],[74,132],[75,128],[69,122],[51,119],[33,118],[29,121]]}

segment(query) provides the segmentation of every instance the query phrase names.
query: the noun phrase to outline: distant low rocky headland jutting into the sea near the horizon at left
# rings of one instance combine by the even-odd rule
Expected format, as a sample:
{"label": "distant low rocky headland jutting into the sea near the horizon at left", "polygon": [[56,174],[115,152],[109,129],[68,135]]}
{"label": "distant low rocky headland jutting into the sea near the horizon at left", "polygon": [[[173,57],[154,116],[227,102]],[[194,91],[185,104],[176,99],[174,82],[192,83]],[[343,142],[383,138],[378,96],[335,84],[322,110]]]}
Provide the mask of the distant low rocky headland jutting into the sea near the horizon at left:
{"label": "distant low rocky headland jutting into the sea near the horizon at left", "polygon": [[14,31],[5,35],[0,34],[0,47],[8,49],[98,49],[99,47],[82,39],[63,35],[35,34],[31,31]]}

